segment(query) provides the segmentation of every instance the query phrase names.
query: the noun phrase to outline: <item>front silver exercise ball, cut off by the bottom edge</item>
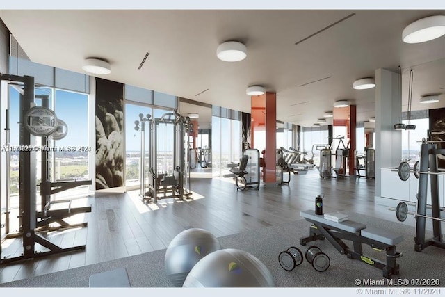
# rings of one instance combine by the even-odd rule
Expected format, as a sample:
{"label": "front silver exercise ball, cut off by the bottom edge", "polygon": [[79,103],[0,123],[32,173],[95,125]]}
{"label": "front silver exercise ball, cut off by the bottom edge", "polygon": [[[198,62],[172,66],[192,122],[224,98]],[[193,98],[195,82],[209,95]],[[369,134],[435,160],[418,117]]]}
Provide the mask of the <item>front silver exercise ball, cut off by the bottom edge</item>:
{"label": "front silver exercise ball, cut off by the bottom edge", "polygon": [[217,250],[192,268],[182,287],[275,287],[272,273],[243,250]]}

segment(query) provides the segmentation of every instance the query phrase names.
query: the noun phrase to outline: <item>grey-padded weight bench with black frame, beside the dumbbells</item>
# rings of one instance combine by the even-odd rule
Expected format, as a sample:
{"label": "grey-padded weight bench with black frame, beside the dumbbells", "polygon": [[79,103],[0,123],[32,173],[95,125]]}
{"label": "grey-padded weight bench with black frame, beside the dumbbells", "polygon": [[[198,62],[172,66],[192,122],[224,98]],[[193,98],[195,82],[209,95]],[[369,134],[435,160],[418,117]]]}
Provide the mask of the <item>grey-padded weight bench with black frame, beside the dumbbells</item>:
{"label": "grey-padded weight bench with black frame, beside the dumbbells", "polygon": [[[396,252],[396,245],[403,241],[403,236],[373,227],[366,228],[366,225],[352,220],[337,223],[327,220],[321,215],[316,215],[315,211],[311,210],[301,211],[300,216],[313,224],[309,229],[309,236],[300,239],[302,246],[318,239],[327,239],[334,248],[349,259],[359,259],[366,264],[382,269],[385,278],[398,275],[399,265],[396,259],[402,257],[402,254]],[[343,240],[352,241],[353,248],[351,249]],[[385,250],[386,262],[363,255],[362,244],[377,250]]]}

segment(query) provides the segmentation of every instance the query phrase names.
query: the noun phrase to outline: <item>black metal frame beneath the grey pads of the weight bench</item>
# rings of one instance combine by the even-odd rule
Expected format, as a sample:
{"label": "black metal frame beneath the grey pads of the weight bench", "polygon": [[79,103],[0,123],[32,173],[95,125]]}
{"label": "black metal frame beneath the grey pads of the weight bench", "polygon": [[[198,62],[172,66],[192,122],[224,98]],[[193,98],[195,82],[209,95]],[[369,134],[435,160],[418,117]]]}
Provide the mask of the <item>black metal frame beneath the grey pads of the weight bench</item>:
{"label": "black metal frame beneath the grey pads of the weight bench", "polygon": [[[366,264],[370,264],[382,270],[385,278],[391,278],[391,275],[398,275],[400,269],[396,259],[401,254],[396,251],[396,246],[391,246],[380,241],[369,239],[357,233],[346,232],[324,223],[316,222],[310,218],[305,218],[308,222],[314,224],[309,229],[309,236],[300,239],[300,244],[305,246],[307,243],[327,239],[341,255],[346,255],[349,259],[358,259]],[[352,241],[351,249],[343,240]],[[363,254],[362,244],[386,251],[386,263],[378,259],[373,259]]]}

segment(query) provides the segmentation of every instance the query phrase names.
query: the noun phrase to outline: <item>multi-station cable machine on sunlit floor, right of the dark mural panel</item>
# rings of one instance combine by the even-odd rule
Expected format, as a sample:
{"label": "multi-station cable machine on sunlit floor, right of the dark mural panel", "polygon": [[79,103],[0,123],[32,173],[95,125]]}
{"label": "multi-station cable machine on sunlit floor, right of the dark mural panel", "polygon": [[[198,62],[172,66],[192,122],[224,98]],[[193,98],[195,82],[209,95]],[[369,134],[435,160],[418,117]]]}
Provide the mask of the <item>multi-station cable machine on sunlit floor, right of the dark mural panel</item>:
{"label": "multi-station cable machine on sunlit floor, right of the dark mural panel", "polygon": [[[165,113],[161,118],[149,119],[139,115],[141,124],[141,188],[140,195],[144,202],[159,199],[179,198],[183,200],[191,195],[190,168],[187,164],[187,150],[184,143],[190,118],[179,113]],[[138,130],[139,121],[135,122]],[[164,129],[161,129],[161,128]],[[147,129],[148,128],[148,129]],[[145,182],[145,131],[149,131],[148,184]],[[170,136],[170,138],[169,138]],[[171,138],[172,136],[172,138]],[[170,148],[164,147],[163,163],[160,162],[161,139]],[[169,138],[169,139],[168,139]],[[167,155],[169,153],[172,155]],[[161,166],[162,165],[162,166]]]}

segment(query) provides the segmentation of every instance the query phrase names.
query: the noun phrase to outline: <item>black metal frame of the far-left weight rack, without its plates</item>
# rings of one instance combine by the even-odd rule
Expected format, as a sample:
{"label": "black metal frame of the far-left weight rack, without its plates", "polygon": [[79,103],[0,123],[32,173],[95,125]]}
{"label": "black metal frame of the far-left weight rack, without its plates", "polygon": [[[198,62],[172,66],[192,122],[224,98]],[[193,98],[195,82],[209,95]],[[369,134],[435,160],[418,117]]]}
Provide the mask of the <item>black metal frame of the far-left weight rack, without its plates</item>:
{"label": "black metal frame of the far-left weight rack, without its plates", "polygon": [[[17,75],[10,74],[0,74],[0,81],[15,81],[23,83],[23,95],[20,95],[20,112],[19,118],[22,119],[19,122],[19,142],[23,146],[31,146],[32,136],[27,129],[24,127],[23,117],[26,112],[34,104],[34,77],[24,76],[19,77]],[[47,144],[46,137],[42,140],[42,143]],[[54,243],[51,243],[48,239],[37,234],[38,228],[48,226],[49,223],[58,222],[61,223],[62,227],[68,227],[67,223],[63,221],[63,218],[72,216],[73,214],[78,214],[81,212],[91,211],[91,207],[82,207],[76,209],[59,209],[55,211],[37,211],[36,205],[36,152],[34,150],[19,152],[19,210],[20,210],[20,230],[18,236],[22,236],[23,239],[23,252],[22,255],[18,257],[3,257],[0,255],[0,264],[7,264],[15,261],[22,261],[24,259],[31,259],[36,257],[44,257],[47,255],[54,255],[60,252],[70,252],[74,250],[84,250],[86,246],[74,246],[71,248],[60,248]],[[51,193],[57,193],[64,191],[67,188],[72,188],[74,186],[79,186],[84,184],[82,182],[68,182],[68,183],[51,183],[47,180],[49,172],[47,170],[47,154],[42,152],[42,207],[47,206],[49,203],[49,195]],[[43,171],[42,171],[43,173]],[[79,184],[80,183],[80,184]],[[89,181],[89,184],[91,181]],[[55,190],[52,186],[56,186]],[[43,204],[45,203],[45,204]],[[47,209],[45,209],[47,210]],[[12,236],[11,236],[12,237]],[[35,244],[38,243],[48,251],[36,251]],[[0,250],[1,251],[1,250]]]}

